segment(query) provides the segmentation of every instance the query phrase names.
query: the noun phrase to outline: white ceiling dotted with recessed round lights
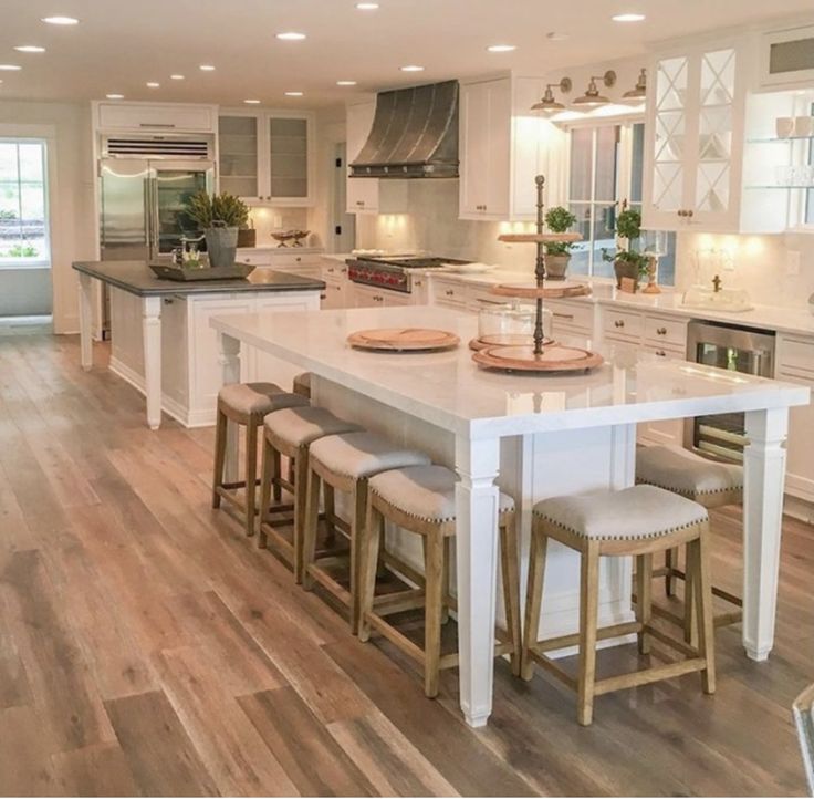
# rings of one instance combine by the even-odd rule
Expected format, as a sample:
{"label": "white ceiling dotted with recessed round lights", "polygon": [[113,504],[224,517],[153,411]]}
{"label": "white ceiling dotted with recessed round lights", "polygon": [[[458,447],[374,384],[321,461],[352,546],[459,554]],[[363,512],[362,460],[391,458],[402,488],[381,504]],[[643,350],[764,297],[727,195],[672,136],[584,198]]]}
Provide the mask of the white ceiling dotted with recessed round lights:
{"label": "white ceiling dotted with recessed round lights", "polygon": [[[355,0],[1,0],[0,100],[92,100],[121,92],[128,100],[315,107],[377,91],[518,69],[552,69],[635,55],[644,42],[811,11],[811,0],[378,0],[363,12]],[[613,13],[641,11],[620,24]],[[72,28],[41,17],[67,14]],[[302,31],[282,42],[281,31]],[[550,41],[549,32],[567,33]],[[490,44],[515,44],[492,54]],[[18,53],[39,44],[43,54]],[[215,72],[201,72],[211,63]],[[421,64],[420,73],[403,73]],[[171,73],[186,75],[170,81]],[[337,80],[358,86],[340,89]],[[150,90],[147,81],[160,82]],[[304,97],[289,98],[286,91]]]}

